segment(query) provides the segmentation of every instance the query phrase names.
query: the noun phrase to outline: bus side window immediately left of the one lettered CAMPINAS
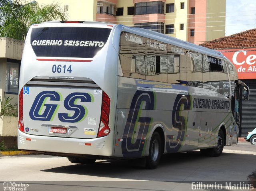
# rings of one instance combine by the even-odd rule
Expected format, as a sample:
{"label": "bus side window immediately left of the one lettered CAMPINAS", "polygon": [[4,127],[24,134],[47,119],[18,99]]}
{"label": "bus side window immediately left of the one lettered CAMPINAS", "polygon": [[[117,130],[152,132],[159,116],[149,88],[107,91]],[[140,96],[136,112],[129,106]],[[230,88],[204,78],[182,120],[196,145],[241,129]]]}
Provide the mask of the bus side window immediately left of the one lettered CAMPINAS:
{"label": "bus side window immediately left of the one lettered CAMPINAS", "polygon": [[203,87],[202,54],[186,51],[187,85]]}

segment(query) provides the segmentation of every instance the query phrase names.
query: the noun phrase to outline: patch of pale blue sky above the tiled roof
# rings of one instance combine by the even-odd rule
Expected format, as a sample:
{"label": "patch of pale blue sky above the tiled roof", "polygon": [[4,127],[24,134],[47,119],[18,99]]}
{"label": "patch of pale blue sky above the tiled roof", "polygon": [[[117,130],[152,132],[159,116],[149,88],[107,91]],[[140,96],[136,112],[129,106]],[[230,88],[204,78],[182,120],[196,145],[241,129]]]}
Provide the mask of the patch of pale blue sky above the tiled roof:
{"label": "patch of pale blue sky above the tiled roof", "polygon": [[225,35],[252,28],[256,28],[256,0],[226,0]]}

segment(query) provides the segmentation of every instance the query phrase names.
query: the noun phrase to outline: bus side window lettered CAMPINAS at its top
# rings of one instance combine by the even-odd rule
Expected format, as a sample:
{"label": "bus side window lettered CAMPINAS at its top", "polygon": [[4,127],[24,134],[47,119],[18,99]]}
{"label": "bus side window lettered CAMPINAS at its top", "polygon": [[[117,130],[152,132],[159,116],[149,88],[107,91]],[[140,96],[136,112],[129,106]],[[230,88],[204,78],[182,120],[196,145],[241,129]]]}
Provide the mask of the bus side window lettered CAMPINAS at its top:
{"label": "bus side window lettered CAMPINAS at its top", "polygon": [[217,59],[203,55],[203,87],[217,91]]}

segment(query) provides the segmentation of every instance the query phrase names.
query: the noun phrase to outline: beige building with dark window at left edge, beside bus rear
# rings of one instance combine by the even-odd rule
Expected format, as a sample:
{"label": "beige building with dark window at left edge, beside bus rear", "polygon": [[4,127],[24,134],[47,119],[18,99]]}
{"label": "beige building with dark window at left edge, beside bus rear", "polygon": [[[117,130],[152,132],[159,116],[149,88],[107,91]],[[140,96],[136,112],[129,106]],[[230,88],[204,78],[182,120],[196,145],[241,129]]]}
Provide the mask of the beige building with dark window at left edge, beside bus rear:
{"label": "beige building with dark window at left edge, beside bus rear", "polygon": [[[4,141],[6,148],[17,147],[17,124],[18,117],[18,78],[24,41],[12,38],[0,37],[0,110],[6,108],[6,98],[11,98],[16,111],[14,116],[0,115],[0,142]],[[9,111],[8,109],[6,111]]]}

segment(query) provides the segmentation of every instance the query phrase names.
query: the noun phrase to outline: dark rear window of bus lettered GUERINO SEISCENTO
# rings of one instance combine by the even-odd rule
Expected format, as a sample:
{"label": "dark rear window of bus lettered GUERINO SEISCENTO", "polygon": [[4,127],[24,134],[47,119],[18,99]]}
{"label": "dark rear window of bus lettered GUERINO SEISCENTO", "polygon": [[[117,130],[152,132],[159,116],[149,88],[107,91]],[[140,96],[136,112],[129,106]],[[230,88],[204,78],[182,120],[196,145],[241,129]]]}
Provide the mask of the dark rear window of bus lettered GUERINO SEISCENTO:
{"label": "dark rear window of bus lettered GUERINO SEISCENTO", "polygon": [[110,31],[84,27],[34,28],[30,43],[36,56],[93,58],[105,45]]}

